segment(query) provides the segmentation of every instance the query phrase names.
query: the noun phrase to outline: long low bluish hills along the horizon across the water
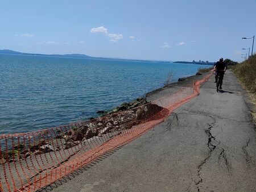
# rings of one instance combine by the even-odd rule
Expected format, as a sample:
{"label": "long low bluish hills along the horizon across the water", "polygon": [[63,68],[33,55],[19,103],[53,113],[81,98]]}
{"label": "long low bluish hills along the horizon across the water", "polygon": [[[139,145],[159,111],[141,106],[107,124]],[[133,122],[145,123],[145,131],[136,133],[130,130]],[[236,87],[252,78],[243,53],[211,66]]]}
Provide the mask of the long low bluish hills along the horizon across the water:
{"label": "long low bluish hills along the horizon across the water", "polygon": [[[153,61],[153,60],[136,60],[136,59],[119,59],[119,58],[108,58],[108,57],[91,57],[84,54],[38,54],[38,53],[22,53],[18,51],[13,51],[9,49],[2,49],[0,50],[0,54],[13,54],[13,55],[35,55],[35,56],[52,56],[52,57],[75,57],[75,58],[85,58],[85,59],[107,59],[107,60],[127,60],[127,61],[146,61],[146,62],[165,62],[165,63],[172,63],[172,61]],[[212,65],[212,62],[207,64],[199,63],[199,62],[187,62],[187,61],[175,61],[174,63],[183,63],[183,64],[200,64],[200,65]]]}

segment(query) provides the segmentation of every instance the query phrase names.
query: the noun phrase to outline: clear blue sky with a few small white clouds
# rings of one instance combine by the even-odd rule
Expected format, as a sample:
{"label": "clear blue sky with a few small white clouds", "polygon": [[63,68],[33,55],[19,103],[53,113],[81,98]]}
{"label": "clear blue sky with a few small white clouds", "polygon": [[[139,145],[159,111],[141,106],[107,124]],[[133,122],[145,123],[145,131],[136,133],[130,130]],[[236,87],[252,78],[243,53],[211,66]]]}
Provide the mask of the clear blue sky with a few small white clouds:
{"label": "clear blue sky with a few small white clouds", "polygon": [[253,44],[242,37],[256,35],[255,10],[255,0],[1,0],[0,49],[242,61]]}

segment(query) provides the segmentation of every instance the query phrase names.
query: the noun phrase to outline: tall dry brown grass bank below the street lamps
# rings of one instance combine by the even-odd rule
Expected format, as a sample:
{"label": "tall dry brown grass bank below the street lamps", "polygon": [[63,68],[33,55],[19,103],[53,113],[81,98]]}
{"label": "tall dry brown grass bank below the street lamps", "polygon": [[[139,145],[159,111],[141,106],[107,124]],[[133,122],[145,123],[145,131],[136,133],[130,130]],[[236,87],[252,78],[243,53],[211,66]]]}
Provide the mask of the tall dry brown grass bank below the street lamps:
{"label": "tall dry brown grass bank below the street lamps", "polygon": [[241,62],[233,66],[233,72],[237,75],[238,79],[246,87],[246,89],[256,94],[256,55],[251,59]]}

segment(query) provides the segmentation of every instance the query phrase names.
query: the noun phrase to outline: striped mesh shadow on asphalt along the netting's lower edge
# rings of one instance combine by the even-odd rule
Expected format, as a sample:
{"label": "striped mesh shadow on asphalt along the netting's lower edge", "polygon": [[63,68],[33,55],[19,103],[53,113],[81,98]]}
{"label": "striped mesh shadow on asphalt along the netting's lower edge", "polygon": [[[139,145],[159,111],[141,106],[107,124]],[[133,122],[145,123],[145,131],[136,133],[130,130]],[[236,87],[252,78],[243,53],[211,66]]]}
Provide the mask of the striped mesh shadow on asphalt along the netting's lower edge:
{"label": "striped mesh shadow on asphalt along the netting's lower edge", "polygon": [[100,157],[96,158],[96,160],[90,162],[88,165],[82,166],[81,168],[75,170],[74,172],[68,174],[67,176],[64,176],[63,178],[51,183],[51,185],[48,185],[46,187],[43,187],[42,189],[38,190],[39,192],[46,192],[46,191],[52,191],[56,189],[57,187],[63,185],[64,183],[67,183],[71,181],[73,178],[79,176],[80,174],[86,172],[86,170],[92,168],[94,165],[97,165],[102,160],[108,158],[109,156],[113,155],[115,152],[117,152],[119,149],[121,149],[125,144],[120,145],[119,147],[113,149],[112,151],[106,152],[104,155],[101,155]]}

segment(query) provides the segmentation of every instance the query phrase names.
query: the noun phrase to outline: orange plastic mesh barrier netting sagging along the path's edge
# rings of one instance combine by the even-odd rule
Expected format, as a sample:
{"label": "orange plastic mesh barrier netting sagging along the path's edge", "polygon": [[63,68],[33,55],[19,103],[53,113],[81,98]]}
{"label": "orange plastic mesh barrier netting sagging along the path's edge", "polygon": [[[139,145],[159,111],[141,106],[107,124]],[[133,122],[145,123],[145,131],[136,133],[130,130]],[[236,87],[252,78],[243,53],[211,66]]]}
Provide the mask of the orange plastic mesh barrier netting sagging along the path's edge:
{"label": "orange plastic mesh barrier netting sagging along the path's edge", "polygon": [[0,135],[0,191],[36,191],[163,122],[199,94],[200,81],[146,105],[97,119]]}

